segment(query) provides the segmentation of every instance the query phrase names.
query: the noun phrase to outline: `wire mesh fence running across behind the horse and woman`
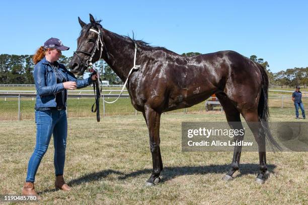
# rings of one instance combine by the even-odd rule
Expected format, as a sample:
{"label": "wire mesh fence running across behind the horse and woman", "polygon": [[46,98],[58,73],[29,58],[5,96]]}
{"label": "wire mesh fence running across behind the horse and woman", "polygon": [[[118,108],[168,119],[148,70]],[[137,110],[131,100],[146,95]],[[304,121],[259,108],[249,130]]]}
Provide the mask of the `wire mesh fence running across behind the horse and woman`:
{"label": "wire mesh fence running across behind the horse and woman", "polygon": [[[103,94],[107,101],[112,101],[117,94]],[[34,93],[0,93],[0,121],[5,120],[34,120],[34,107],[36,94]],[[303,104],[307,101],[307,96],[302,97]],[[95,103],[94,94],[68,94],[66,114],[68,118],[74,117],[94,117],[96,113],[91,112],[91,107]],[[289,113],[294,112],[294,103],[291,96],[269,97],[270,108],[289,109]],[[123,94],[114,104],[106,104],[100,100],[101,116],[111,115],[140,115],[131,105],[128,94]],[[221,107],[215,106],[214,111],[221,111]],[[201,102],[191,108],[175,110],[166,114],[176,113],[203,113],[206,112],[206,101]]]}

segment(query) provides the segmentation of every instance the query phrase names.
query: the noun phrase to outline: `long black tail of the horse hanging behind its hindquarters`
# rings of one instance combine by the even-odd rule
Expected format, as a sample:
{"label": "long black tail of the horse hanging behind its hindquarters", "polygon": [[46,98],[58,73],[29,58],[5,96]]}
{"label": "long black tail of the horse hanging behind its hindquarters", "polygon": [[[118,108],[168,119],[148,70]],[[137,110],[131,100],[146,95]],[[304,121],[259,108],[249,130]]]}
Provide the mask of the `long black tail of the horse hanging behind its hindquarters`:
{"label": "long black tail of the horse hanging behind its hindquarters", "polygon": [[269,86],[269,80],[268,75],[266,73],[265,68],[258,64],[258,68],[260,69],[261,75],[262,75],[262,88],[261,88],[261,95],[259,99],[259,105],[258,105],[258,117],[259,121],[265,131],[265,135],[267,139],[272,143],[274,147],[276,147],[278,150],[281,150],[280,145],[275,141],[273,138],[269,127],[268,127],[268,119],[269,119],[269,107],[268,107],[268,86]]}

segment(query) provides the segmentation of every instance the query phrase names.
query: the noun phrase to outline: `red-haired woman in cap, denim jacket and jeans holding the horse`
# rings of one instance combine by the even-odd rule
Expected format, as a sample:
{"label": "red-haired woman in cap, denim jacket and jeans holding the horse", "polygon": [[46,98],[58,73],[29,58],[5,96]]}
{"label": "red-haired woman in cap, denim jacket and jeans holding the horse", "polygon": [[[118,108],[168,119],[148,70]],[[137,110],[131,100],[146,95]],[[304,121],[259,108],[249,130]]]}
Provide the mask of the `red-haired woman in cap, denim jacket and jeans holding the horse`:
{"label": "red-haired woman in cap, denim jacket and jeans holding the horse", "polygon": [[83,88],[93,83],[97,75],[78,80],[57,60],[61,51],[68,50],[59,39],[50,38],[33,56],[33,77],[37,91],[35,104],[36,145],[28,163],[23,195],[36,195],[35,174],[47,151],[51,135],[54,142],[55,188],[70,190],[63,178],[67,136],[66,99],[67,89]]}

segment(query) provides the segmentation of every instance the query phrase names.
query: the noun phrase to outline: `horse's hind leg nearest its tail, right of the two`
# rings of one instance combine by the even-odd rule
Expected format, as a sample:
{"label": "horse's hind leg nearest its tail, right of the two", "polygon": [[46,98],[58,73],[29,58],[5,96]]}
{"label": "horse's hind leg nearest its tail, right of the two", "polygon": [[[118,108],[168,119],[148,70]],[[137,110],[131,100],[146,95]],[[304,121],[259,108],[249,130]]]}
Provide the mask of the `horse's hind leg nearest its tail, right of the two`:
{"label": "horse's hind leg nearest its tail, right of the two", "polygon": [[251,129],[259,149],[259,160],[260,160],[260,172],[256,178],[256,182],[263,184],[267,174],[267,165],[266,165],[266,152],[265,152],[265,131],[259,121],[258,111],[244,111],[243,117],[245,118],[249,128]]}

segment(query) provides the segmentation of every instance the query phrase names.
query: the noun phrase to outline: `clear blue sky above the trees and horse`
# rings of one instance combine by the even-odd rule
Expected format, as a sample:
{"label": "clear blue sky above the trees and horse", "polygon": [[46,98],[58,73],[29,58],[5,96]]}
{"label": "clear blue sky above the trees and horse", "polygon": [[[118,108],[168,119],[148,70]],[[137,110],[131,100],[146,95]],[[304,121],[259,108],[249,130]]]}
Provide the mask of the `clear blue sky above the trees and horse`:
{"label": "clear blue sky above the trees and horse", "polygon": [[308,66],[307,1],[3,1],[0,54],[33,54],[50,37],[70,47],[89,13],[104,28],[184,52],[234,50],[273,72]]}

